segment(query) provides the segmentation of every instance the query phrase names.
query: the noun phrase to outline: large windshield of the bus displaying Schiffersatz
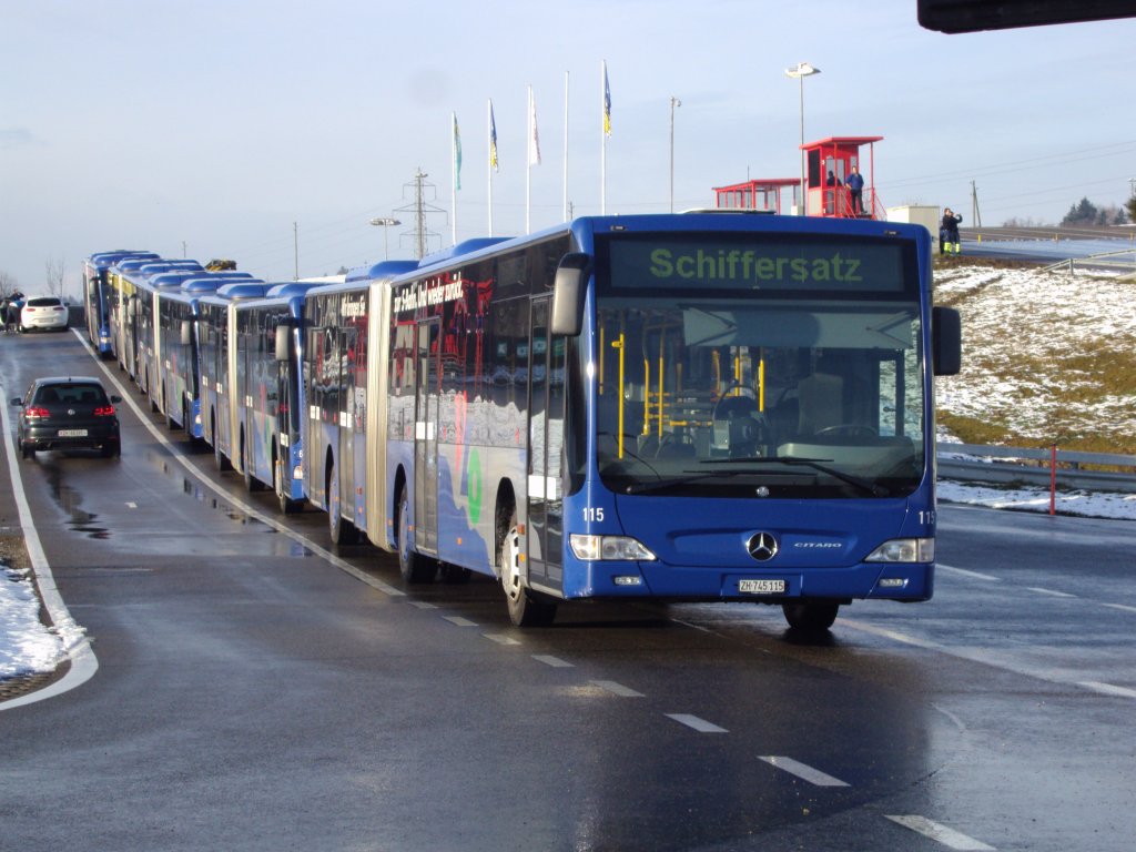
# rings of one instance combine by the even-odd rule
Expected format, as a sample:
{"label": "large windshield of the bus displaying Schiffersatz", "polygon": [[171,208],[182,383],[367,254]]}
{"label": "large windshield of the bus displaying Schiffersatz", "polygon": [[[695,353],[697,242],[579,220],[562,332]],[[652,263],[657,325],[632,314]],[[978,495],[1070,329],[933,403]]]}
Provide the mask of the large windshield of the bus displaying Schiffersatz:
{"label": "large windshield of the bus displaying Schiffersatz", "polygon": [[752,276],[660,286],[616,254],[596,281],[595,448],[608,488],[793,499],[917,488],[925,366],[917,279],[901,257],[875,258],[893,270],[886,285],[813,282],[794,294]]}

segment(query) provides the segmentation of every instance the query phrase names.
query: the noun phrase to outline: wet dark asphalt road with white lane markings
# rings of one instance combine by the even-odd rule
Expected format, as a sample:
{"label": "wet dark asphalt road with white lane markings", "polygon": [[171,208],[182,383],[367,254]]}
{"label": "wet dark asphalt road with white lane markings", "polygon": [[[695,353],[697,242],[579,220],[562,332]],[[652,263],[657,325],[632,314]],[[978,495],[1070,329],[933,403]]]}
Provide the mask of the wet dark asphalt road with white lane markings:
{"label": "wet dark asphalt road with white lane markings", "polygon": [[[0,339],[6,400],[68,370]],[[742,604],[519,630],[122,408],[120,460],[19,463],[99,670],[0,712],[0,850],[1131,847],[1136,525],[942,507],[935,600],[811,644]]]}

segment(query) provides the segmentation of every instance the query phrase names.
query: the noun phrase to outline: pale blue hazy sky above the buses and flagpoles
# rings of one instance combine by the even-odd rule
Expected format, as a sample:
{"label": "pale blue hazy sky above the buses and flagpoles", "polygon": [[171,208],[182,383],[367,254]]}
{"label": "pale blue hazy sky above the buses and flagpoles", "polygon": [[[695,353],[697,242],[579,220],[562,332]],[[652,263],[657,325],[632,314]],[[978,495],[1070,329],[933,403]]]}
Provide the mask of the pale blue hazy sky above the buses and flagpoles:
{"label": "pale blue hazy sky above the buses and flagpoles", "polygon": [[803,84],[807,141],[884,136],[888,207],[949,206],[967,225],[974,181],[985,224],[1055,223],[1083,197],[1130,194],[1136,19],[944,35],[919,26],[917,0],[694,8],[0,0],[0,274],[31,293],[62,265],[77,295],[83,258],[119,248],[270,281],[414,257],[419,169],[429,248],[484,236],[490,99],[496,235],[524,233],[526,210],[533,231],[562,220],[566,159],[574,215],[667,212],[673,97],[674,206],[708,207],[713,186],[800,174],[784,73],[800,61],[821,72]]}

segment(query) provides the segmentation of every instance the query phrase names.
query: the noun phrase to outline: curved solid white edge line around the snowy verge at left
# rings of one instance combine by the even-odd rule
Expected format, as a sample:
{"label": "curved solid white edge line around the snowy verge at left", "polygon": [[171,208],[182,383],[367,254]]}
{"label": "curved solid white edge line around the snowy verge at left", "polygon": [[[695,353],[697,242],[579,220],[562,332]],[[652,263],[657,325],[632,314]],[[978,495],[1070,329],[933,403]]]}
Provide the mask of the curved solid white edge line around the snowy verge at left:
{"label": "curved solid white edge line around the snowy verge at left", "polygon": [[[0,383],[0,402],[8,398],[8,389]],[[40,532],[35,527],[35,517],[32,515],[32,507],[27,502],[27,493],[24,491],[24,477],[19,473],[19,461],[16,459],[16,442],[12,440],[11,419],[8,415],[8,406],[0,404],[0,423],[3,424],[5,452],[8,457],[8,474],[11,479],[11,493],[16,500],[16,513],[19,516],[19,525],[24,534],[24,544],[27,548],[27,558],[32,562],[32,573],[35,575],[35,583],[40,587],[40,598],[43,608],[48,611],[51,624],[62,643],[62,652],[70,660],[67,673],[53,684],[42,690],[20,695],[18,699],[0,701],[0,710],[12,710],[25,704],[33,704],[36,701],[61,695],[70,692],[76,686],[82,686],[90,680],[94,673],[99,670],[99,660],[91,650],[91,642],[86,636],[86,629],[81,627],[72,617],[67,609],[64,596],[56,586],[55,575],[51,573],[51,563],[43,551],[43,543],[40,541]]]}

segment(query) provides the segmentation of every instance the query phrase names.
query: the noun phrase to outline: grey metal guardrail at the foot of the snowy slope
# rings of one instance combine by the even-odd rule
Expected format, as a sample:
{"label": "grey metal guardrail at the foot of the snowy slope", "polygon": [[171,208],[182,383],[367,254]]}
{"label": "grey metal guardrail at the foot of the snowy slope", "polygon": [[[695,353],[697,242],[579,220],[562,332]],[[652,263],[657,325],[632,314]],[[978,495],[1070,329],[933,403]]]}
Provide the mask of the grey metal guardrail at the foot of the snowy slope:
{"label": "grey metal guardrail at the foot of the snowy slope", "polygon": [[[1053,448],[938,444],[938,477],[1136,493],[1136,456]],[[1126,468],[1085,470],[1083,465]]]}

